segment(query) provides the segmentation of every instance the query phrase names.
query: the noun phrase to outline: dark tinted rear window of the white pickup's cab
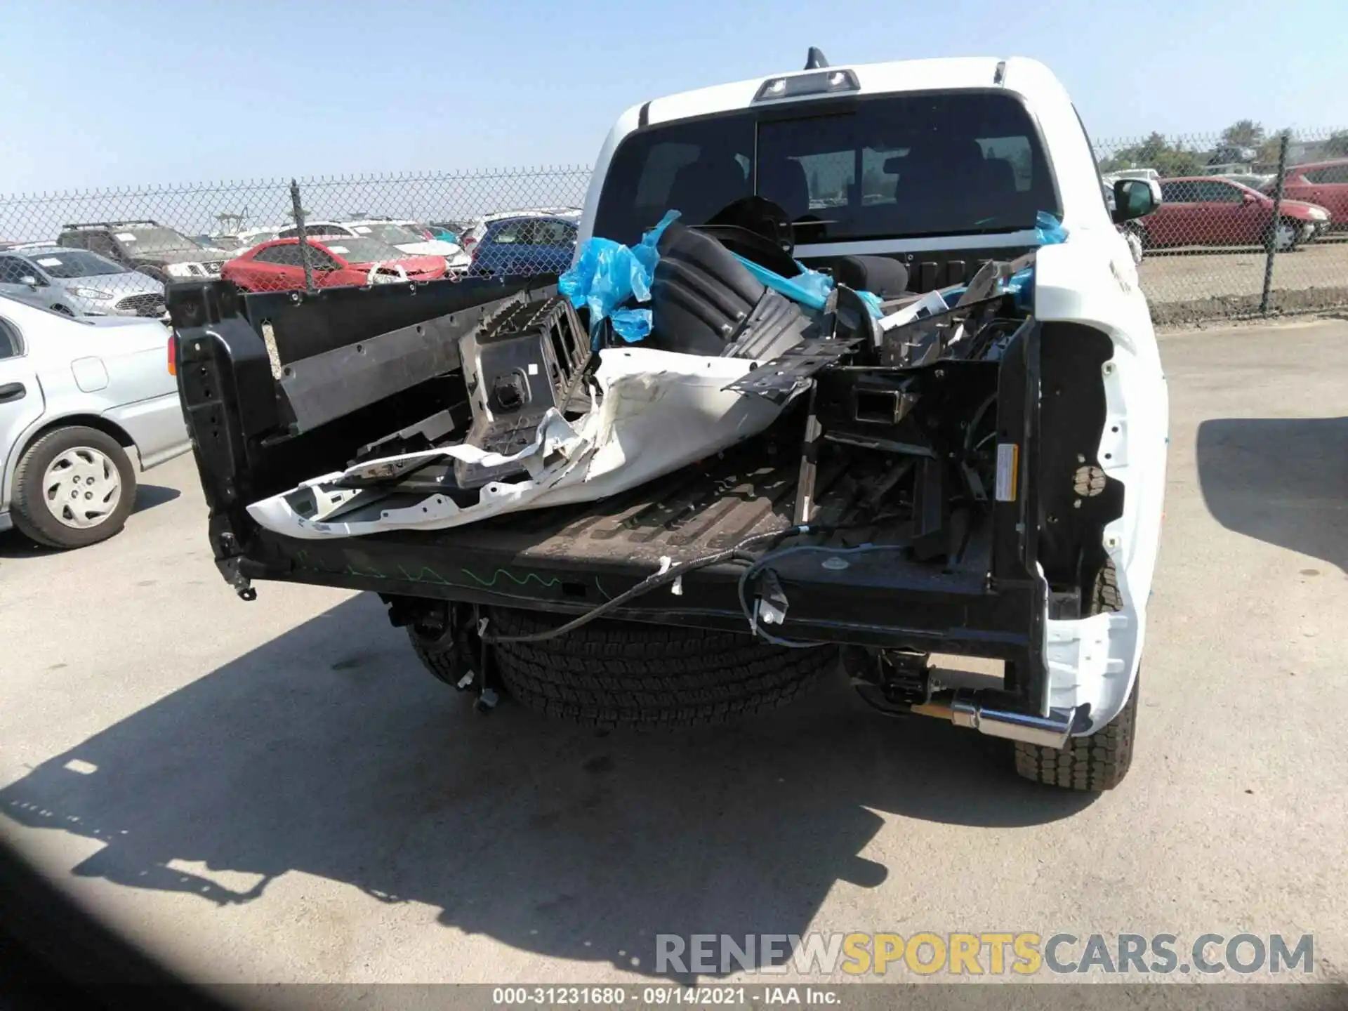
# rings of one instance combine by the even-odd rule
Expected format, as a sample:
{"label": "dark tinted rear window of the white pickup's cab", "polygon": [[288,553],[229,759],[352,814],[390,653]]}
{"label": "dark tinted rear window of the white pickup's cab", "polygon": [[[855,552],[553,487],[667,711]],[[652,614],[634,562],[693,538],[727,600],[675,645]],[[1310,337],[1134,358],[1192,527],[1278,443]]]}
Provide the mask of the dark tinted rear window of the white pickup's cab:
{"label": "dark tinted rear window of the white pickup's cab", "polygon": [[1006,92],[891,94],[681,120],[628,135],[594,235],[635,243],[666,210],[705,224],[756,193],[795,241],[1018,232],[1061,216],[1034,120]]}

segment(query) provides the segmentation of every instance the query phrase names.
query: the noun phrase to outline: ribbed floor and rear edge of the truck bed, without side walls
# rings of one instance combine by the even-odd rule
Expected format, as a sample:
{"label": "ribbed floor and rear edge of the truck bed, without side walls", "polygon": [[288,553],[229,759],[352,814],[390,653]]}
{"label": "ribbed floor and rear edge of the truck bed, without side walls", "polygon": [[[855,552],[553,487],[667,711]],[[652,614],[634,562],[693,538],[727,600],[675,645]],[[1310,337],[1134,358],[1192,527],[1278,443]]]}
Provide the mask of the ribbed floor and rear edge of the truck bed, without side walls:
{"label": "ribbed floor and rear edge of the truck bed, without side walls", "polygon": [[[787,531],[799,472],[798,454],[764,437],[624,495],[446,530],[324,541],[256,530],[241,573],[390,597],[580,613],[671,563]],[[814,488],[811,522],[825,530],[790,543],[875,550],[848,555],[844,570],[821,566],[817,558],[782,565],[793,628],[859,644],[917,638],[945,652],[1010,661],[1038,648],[1031,631],[1034,584],[1006,581],[996,594],[988,593],[988,526],[972,531],[957,559],[923,562],[909,547],[910,519],[859,519],[869,515],[860,508],[872,491],[867,476],[857,479],[842,460],[826,460]],[[616,616],[743,628],[741,572],[731,563],[700,569],[683,580],[681,593],[651,593]]]}

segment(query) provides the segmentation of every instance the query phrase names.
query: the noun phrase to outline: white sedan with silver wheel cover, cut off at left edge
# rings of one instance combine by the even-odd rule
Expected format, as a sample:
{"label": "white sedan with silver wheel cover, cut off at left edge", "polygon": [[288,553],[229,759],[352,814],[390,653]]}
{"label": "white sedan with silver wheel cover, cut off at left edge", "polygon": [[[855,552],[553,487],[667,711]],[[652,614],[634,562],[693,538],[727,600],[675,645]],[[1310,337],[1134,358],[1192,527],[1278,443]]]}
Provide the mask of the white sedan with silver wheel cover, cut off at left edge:
{"label": "white sedan with silver wheel cover, cut off at left edge", "polygon": [[171,334],[0,297],[0,531],[84,547],[121,530],[136,469],[190,449]]}

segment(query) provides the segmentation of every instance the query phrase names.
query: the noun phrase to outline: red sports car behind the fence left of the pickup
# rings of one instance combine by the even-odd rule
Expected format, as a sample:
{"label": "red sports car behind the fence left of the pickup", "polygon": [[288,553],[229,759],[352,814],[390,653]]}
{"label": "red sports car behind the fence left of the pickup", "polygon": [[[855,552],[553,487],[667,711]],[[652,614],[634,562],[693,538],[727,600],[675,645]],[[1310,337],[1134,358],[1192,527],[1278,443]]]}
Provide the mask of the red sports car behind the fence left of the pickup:
{"label": "red sports car behind the fence left of the pickup", "polygon": [[[332,288],[434,280],[445,276],[443,256],[408,256],[367,236],[310,237],[314,286]],[[305,287],[298,239],[274,239],[228,260],[220,276],[245,291],[290,291]]]}

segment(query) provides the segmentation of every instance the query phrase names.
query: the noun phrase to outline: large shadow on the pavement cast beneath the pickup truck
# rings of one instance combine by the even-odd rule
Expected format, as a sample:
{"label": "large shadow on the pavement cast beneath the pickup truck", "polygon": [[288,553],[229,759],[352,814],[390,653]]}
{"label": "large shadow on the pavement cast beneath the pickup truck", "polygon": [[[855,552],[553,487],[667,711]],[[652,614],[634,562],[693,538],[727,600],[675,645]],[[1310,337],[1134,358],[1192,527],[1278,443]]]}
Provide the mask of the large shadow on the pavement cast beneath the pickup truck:
{"label": "large shadow on the pavement cast beneath the pickup truck", "polygon": [[1018,826],[1095,799],[842,683],[681,733],[597,736],[468,701],[365,594],[43,763],[0,811],[101,841],[75,875],[225,906],[303,871],[518,949],[652,972],[656,930],[801,934],[837,882],[925,875],[860,855],[876,811]]}

